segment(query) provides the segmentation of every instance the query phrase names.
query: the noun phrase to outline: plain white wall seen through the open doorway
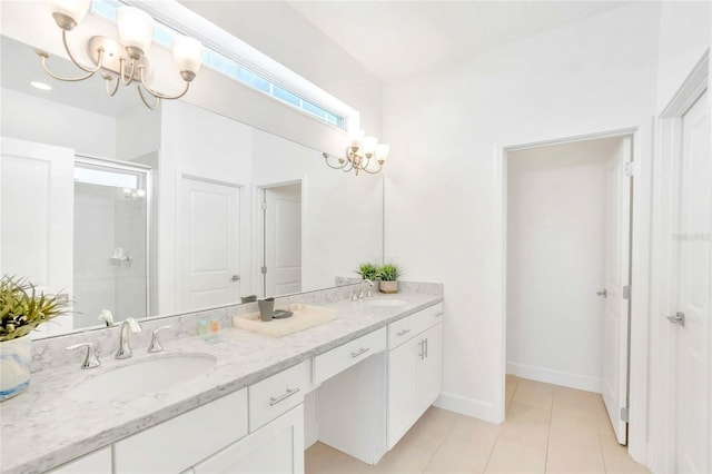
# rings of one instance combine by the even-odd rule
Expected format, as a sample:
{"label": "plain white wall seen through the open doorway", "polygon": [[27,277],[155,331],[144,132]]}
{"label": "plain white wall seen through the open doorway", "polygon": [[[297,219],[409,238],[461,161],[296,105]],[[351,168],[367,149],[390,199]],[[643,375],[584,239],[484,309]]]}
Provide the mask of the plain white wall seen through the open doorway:
{"label": "plain white wall seen through the open doorway", "polygon": [[507,373],[601,392],[605,162],[621,138],[507,154]]}

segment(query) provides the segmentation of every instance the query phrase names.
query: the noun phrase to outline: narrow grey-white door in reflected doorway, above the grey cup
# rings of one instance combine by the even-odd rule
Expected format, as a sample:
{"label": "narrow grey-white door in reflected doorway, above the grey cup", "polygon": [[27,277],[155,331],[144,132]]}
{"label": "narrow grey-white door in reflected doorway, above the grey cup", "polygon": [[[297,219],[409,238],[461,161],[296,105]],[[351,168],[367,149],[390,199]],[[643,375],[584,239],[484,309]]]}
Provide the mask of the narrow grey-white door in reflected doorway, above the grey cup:
{"label": "narrow grey-white door in reflected doorway, above the grey cup", "polygon": [[301,292],[301,182],[263,189],[263,296]]}

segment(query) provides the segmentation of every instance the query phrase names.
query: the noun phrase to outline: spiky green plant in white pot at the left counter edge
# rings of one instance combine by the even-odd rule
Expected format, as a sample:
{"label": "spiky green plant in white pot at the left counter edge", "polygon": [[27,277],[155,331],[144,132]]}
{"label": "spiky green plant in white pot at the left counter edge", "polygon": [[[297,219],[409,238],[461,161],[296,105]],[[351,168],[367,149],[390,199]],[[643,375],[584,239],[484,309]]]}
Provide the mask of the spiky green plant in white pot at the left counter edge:
{"label": "spiky green plant in white pot at the left counter edge", "polygon": [[68,302],[37,292],[27,278],[0,279],[0,402],[30,384],[31,340],[40,324],[66,313]]}

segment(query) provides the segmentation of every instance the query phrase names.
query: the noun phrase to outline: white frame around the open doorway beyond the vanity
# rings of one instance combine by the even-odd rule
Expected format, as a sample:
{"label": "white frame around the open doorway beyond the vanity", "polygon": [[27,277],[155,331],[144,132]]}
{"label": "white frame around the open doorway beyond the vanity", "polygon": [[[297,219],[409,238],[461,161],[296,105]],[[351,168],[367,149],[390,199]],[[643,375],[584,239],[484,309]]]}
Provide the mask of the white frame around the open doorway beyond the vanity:
{"label": "white frame around the open doorway beyond the vanity", "polygon": [[526,148],[545,147],[597,138],[631,136],[633,140],[633,235],[631,282],[630,333],[630,416],[627,450],[633,460],[645,463],[647,451],[647,354],[649,354],[649,300],[650,300],[650,230],[652,184],[653,118],[643,117],[631,127],[595,131],[556,139],[498,145],[494,144],[494,208],[493,208],[493,278],[492,290],[496,295],[492,313],[501,322],[500,327],[500,384],[495,387],[495,416],[505,418],[506,384],[506,280],[507,280],[507,154]]}

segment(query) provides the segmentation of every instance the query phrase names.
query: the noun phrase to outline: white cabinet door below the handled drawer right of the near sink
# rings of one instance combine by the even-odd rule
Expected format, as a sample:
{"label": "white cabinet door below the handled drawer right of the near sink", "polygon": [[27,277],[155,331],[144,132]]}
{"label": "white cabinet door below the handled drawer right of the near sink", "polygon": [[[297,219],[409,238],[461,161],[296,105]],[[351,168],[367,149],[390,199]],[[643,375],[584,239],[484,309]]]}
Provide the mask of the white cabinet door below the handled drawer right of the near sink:
{"label": "white cabinet door below the handled drawer right of the near sink", "polygon": [[194,473],[304,473],[304,405],[197,464]]}

